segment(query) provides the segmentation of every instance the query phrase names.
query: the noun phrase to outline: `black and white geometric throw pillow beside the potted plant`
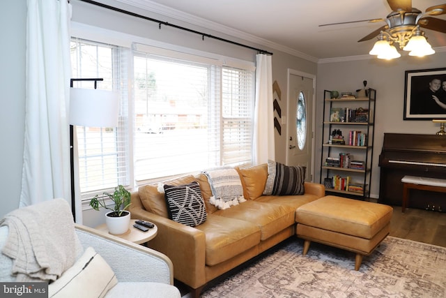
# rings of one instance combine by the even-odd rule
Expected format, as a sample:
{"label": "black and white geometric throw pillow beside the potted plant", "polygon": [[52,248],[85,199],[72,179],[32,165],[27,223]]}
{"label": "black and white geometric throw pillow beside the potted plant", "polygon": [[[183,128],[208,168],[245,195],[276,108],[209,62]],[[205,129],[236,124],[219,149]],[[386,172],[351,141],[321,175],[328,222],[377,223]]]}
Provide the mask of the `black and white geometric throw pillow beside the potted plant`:
{"label": "black and white geometric throw pillow beside the potted plant", "polygon": [[165,184],[164,198],[171,220],[191,227],[206,221],[206,207],[197,181],[180,186]]}

